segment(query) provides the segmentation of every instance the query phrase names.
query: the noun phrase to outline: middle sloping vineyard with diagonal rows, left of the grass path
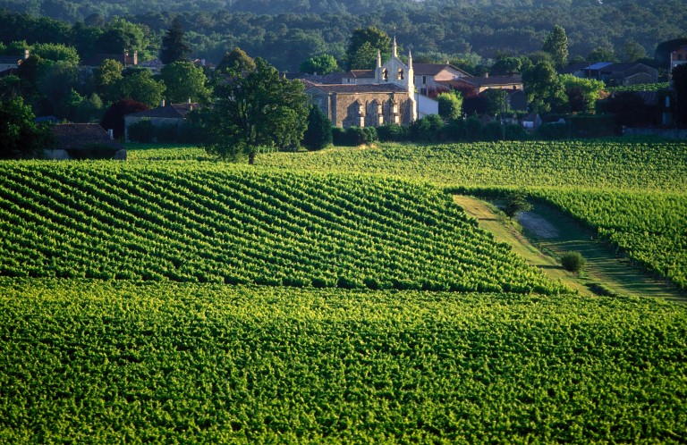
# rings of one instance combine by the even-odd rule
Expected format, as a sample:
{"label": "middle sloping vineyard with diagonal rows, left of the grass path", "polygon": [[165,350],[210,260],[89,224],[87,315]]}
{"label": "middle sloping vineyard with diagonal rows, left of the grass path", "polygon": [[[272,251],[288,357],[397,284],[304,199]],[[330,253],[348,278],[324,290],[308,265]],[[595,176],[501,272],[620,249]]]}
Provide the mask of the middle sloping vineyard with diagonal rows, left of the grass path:
{"label": "middle sloping vineyard with diagonal rows, left of the grass path", "polygon": [[449,196],[205,164],[0,164],[0,275],[556,293]]}

